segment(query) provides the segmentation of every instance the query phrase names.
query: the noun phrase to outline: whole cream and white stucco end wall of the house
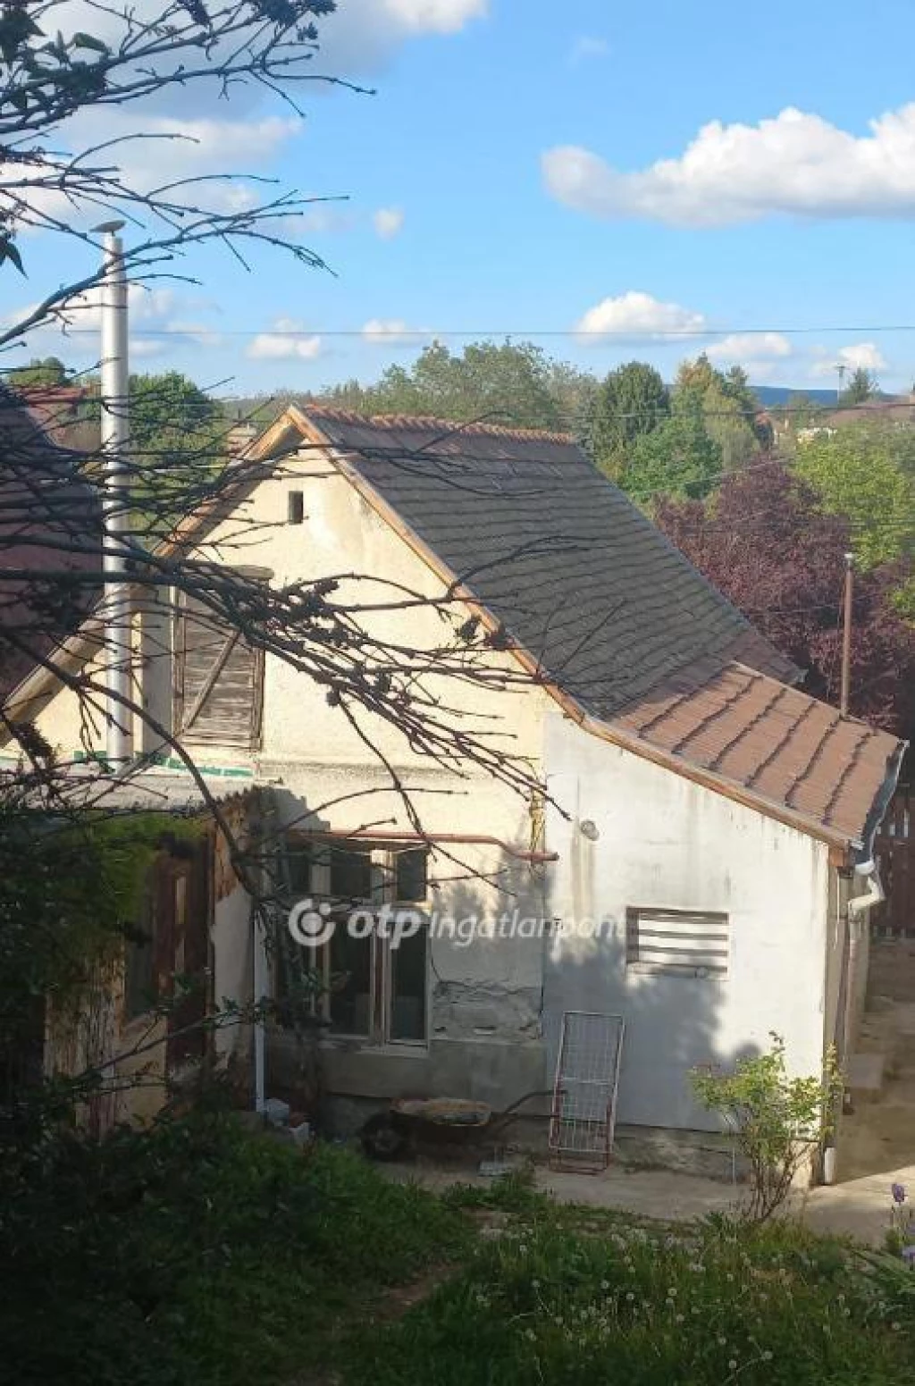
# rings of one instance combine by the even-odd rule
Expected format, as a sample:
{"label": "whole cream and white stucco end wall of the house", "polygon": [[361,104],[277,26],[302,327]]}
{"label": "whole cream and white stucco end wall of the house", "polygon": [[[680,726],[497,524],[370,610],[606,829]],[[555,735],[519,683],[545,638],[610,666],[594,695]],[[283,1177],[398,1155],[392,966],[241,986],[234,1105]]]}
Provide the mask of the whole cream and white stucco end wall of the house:
{"label": "whole cream and white stucco end wall of the house", "polygon": [[[306,520],[287,524],[287,493],[305,491]],[[281,478],[262,482],[201,556],[272,572],[274,585],[337,574],[383,574],[390,582],[441,595],[441,582],[381,518],[313,452],[290,459]],[[376,584],[344,579],[336,600],[385,600]],[[410,608],[372,614],[381,639],[409,646],[444,640],[438,615]],[[505,668],[512,668],[505,657]],[[165,661],[155,661],[168,676]],[[433,686],[433,685],[430,685]],[[548,809],[546,841],[559,852],[545,875],[495,844],[452,843],[437,852],[430,904],[441,913],[498,918],[505,911],[564,922],[614,920],[600,942],[521,937],[482,938],[470,947],[438,938],[431,948],[431,1033],[426,1051],[342,1044],[329,1053],[327,1085],[351,1096],[441,1094],[494,1105],[552,1080],[566,1009],[624,1015],[618,1120],[628,1124],[711,1128],[692,1102],[693,1064],[729,1063],[781,1033],[799,1073],[822,1058],[828,922],[828,852],[804,834],[704,790],[627,751],[588,736],[532,687],[484,692],[438,681],[458,704],[462,726],[505,735],[505,747],[534,771],[568,814]],[[161,705],[162,689],[147,689]],[[158,700],[158,701],[157,701]],[[67,694],[46,710],[42,729],[67,750],[73,717]],[[528,804],[491,776],[431,764],[397,732],[367,719],[373,743],[402,776],[431,834],[487,834],[524,851],[534,845]],[[387,771],[308,675],[266,658],[263,742],[255,753],[198,747],[204,764],[244,765],[281,794],[299,830],[348,833],[372,826],[408,832],[410,816]],[[374,790],[370,796],[366,789]],[[358,796],[358,797],[356,797]],[[309,815],[312,815],[309,818]],[[592,819],[589,843],[578,823]],[[456,859],[455,859],[456,858]],[[489,877],[485,884],[481,877]],[[236,898],[238,897],[238,898]],[[628,905],[722,911],[731,922],[726,980],[627,973]],[[247,999],[251,940],[238,891],[216,905],[216,997]],[[229,1044],[229,1041],[226,1041]]]}

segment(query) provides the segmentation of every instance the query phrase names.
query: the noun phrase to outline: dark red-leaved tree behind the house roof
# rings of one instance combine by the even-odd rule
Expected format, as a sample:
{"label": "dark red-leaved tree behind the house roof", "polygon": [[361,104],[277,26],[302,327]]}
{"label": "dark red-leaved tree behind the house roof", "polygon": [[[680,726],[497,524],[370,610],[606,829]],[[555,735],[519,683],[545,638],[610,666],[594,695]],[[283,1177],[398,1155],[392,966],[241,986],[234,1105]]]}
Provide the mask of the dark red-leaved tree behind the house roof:
{"label": "dark red-leaved tree behind the house roof", "polygon": [[[804,687],[839,703],[848,523],[824,514],[787,467],[761,462],[707,500],[663,500],[656,521],[772,643],[807,671]],[[915,626],[893,593],[898,565],[857,572],[850,711],[915,739]]]}

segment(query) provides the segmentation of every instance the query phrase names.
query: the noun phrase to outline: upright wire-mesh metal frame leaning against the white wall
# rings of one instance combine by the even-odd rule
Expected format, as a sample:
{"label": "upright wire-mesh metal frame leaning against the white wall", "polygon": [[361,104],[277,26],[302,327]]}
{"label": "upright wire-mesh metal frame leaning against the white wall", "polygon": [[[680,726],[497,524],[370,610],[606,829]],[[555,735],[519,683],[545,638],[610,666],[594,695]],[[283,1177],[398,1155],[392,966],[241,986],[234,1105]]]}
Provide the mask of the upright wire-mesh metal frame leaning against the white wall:
{"label": "upright wire-mesh metal frame leaning against the white wall", "polygon": [[[563,1012],[549,1123],[552,1168],[599,1174],[610,1164],[624,1035],[622,1016]],[[575,1110],[581,1103],[584,1114]]]}

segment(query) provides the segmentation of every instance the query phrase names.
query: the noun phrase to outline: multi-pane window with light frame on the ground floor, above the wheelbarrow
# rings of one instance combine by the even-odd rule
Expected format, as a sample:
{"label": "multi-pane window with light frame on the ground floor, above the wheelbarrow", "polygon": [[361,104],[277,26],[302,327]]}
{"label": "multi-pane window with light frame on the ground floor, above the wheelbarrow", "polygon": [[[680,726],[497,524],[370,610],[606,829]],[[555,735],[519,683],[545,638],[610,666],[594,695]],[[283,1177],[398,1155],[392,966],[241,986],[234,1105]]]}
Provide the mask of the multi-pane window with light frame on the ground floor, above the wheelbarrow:
{"label": "multi-pane window with light frame on the ground floor, above the wheelbarrow", "polygon": [[427,857],[426,848],[290,844],[290,880],[304,887],[302,895],[334,904],[336,929],[317,959],[323,985],[319,1008],[331,1035],[370,1044],[424,1044],[426,924],[409,937],[384,937],[378,929],[355,937],[347,920],[354,908],[363,920],[384,905],[421,912],[428,891]]}

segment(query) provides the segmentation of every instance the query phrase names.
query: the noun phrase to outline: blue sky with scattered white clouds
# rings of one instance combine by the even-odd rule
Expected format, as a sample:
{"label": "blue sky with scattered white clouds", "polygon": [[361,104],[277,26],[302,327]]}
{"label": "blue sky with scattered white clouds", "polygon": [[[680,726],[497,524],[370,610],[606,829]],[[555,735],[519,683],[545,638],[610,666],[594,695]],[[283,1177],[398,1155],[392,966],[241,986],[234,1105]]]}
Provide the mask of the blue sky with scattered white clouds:
{"label": "blue sky with scattered white clouds", "polygon": [[[876,330],[915,323],[911,4],[340,0],[324,39],[374,96],[305,91],[301,128],[250,98],[133,112],[193,129],[194,169],[348,195],[302,233],[334,274],[201,251],[198,287],[134,292],[134,369],[316,388],[409,362],[409,330],[598,371],[710,348],[757,383],[832,385],[839,360],[915,380],[915,331]],[[60,247],[26,259],[37,298]],[[67,355],[90,363],[93,338]]]}

